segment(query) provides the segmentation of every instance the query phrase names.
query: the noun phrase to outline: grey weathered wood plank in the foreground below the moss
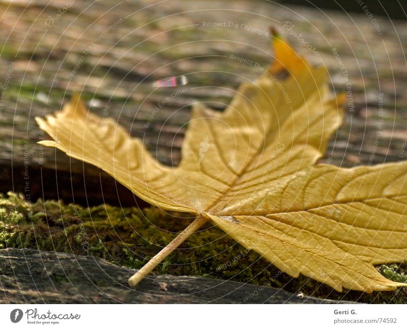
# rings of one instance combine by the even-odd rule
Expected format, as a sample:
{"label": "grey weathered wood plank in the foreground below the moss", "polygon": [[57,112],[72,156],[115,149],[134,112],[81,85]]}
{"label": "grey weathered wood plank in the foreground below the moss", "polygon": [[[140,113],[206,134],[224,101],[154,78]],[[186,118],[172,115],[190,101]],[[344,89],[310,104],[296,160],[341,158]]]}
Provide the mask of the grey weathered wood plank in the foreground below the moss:
{"label": "grey weathered wood plank in the foreground below the moss", "polygon": [[150,275],[130,288],[134,270],[98,257],[32,249],[0,250],[0,273],[2,304],[346,303],[205,277]]}

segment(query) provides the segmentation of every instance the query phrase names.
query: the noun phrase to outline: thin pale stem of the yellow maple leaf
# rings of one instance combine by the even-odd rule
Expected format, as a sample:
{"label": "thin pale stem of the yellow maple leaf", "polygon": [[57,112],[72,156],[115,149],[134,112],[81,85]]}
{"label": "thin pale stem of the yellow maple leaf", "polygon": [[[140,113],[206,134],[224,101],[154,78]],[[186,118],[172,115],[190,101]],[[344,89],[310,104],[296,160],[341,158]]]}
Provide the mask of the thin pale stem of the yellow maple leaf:
{"label": "thin pale stem of the yellow maple leaf", "polygon": [[149,262],[139,269],[130,279],[129,285],[135,287],[142,279],[144,279],[154,268],[159,265],[165,257],[167,257],[172,251],[183,243],[188,237],[197,231],[203,224],[209,221],[208,218],[198,216],[195,220],[189,224],[184,231],[182,231],[174,240],[166,245],[158,254],[149,260]]}

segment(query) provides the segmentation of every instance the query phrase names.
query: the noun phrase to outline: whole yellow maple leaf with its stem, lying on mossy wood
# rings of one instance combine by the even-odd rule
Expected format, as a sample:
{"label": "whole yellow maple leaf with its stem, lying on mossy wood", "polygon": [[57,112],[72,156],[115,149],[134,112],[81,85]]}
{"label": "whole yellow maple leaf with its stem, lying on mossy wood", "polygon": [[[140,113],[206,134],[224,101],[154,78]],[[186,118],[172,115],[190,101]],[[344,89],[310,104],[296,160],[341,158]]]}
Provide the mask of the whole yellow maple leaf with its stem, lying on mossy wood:
{"label": "whole yellow maple leaf with its stem, lying on mossy wood", "polygon": [[60,113],[36,118],[53,139],[40,144],[94,164],[152,205],[196,215],[131,285],[209,220],[293,277],[338,291],[406,285],[373,265],[407,256],[407,162],[316,164],[341,123],[343,96],[329,95],[324,68],[311,67],[277,36],[273,43],[271,67],[242,83],[223,113],[193,106],[177,168],[158,163],[77,96]]}

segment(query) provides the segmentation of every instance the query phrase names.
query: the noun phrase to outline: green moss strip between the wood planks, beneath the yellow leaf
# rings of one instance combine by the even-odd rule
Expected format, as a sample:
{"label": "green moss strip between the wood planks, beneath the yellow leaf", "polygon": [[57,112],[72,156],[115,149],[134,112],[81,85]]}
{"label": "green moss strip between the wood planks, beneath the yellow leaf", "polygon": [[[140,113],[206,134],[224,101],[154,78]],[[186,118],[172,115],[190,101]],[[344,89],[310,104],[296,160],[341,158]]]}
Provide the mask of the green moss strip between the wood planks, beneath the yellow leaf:
{"label": "green moss strip between the wood planks, beneath the yellow leaf", "polygon": [[[83,208],[62,202],[28,203],[22,195],[0,194],[0,248],[33,248],[94,255],[114,264],[140,268],[192,220],[188,214],[101,205]],[[407,264],[377,267],[394,281],[407,282]],[[318,298],[361,303],[407,303],[407,290],[338,293],[307,277],[281,273],[208,224],[155,270],[160,274],[209,276],[302,292]]]}

